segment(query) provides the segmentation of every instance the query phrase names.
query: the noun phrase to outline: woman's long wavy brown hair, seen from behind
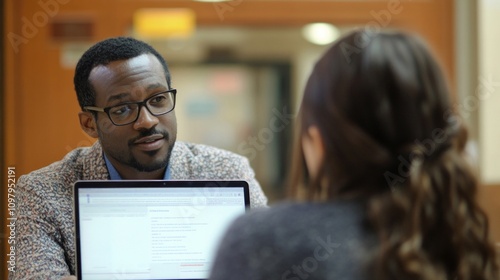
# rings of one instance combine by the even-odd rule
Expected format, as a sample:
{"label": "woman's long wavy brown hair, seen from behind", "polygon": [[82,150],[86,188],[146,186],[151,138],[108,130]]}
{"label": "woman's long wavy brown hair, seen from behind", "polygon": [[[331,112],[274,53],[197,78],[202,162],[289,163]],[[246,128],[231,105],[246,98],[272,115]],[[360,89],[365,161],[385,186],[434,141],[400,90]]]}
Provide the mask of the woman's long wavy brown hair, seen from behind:
{"label": "woman's long wavy brown hair, seen from behind", "polygon": [[[311,126],[325,146],[315,178],[300,144]],[[376,279],[499,279],[467,132],[417,36],[360,30],[337,41],[308,80],[296,139],[292,196],[369,201]]]}

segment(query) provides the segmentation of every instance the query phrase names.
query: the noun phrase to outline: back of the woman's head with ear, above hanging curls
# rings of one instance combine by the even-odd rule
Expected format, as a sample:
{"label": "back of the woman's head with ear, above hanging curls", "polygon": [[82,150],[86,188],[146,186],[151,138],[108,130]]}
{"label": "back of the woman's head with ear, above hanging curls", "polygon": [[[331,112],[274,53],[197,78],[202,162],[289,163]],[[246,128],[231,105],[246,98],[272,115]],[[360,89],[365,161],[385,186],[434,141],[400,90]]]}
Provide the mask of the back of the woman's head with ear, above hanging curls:
{"label": "back of the woman's head with ear, above hanging curls", "polygon": [[450,113],[445,80],[418,38],[342,38],[315,65],[302,101],[302,151],[316,179],[310,195],[325,184],[329,198],[389,190],[419,149],[433,157],[449,146]]}

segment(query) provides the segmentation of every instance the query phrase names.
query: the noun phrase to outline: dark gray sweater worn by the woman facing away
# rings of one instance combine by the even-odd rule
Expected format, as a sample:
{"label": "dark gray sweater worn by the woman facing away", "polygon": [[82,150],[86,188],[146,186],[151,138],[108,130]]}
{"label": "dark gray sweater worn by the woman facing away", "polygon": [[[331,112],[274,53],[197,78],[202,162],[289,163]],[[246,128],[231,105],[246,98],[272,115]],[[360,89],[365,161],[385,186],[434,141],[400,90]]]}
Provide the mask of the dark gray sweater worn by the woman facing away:
{"label": "dark gray sweater worn by the woman facing away", "polygon": [[377,239],[362,201],[283,203],[238,218],[211,280],[370,279]]}

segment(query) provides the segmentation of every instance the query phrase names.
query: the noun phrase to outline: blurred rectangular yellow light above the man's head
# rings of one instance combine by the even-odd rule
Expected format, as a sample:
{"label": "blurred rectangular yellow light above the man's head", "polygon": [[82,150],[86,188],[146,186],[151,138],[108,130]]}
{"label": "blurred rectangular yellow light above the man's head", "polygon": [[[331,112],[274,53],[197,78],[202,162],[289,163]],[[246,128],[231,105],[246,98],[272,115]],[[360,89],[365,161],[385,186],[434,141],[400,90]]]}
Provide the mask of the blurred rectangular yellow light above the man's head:
{"label": "blurred rectangular yellow light above the man's head", "polygon": [[190,9],[140,9],[134,13],[134,33],[146,38],[187,38],[195,30]]}

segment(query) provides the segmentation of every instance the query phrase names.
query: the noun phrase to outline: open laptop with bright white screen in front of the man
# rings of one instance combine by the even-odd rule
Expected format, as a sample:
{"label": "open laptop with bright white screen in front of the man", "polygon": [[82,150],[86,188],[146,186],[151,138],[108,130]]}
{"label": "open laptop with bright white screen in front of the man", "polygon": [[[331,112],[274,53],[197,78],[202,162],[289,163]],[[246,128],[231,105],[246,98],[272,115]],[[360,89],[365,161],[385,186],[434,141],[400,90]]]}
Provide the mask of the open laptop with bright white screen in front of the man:
{"label": "open laptop with bright white screen in front of the man", "polygon": [[207,279],[246,181],[78,181],[79,280]]}

